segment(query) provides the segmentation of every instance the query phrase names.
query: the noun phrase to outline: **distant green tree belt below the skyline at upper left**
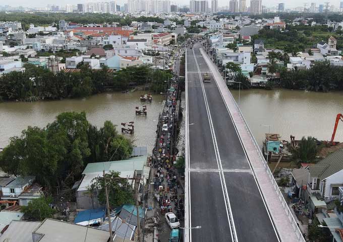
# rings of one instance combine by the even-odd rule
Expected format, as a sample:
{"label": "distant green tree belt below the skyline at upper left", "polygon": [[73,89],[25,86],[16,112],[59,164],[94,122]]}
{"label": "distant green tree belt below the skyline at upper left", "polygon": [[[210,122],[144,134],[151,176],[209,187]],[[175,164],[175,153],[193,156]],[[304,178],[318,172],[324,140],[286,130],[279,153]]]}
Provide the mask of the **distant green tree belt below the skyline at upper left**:
{"label": "distant green tree belt below the skyline at upper left", "polygon": [[154,17],[139,17],[133,18],[129,15],[118,16],[112,14],[90,14],[90,13],[0,13],[0,21],[19,21],[22,23],[23,29],[27,30],[30,24],[34,25],[50,25],[52,23],[58,24],[60,20],[78,24],[89,23],[119,23],[121,26],[130,25],[132,21],[138,22],[157,22],[163,23],[163,19]]}

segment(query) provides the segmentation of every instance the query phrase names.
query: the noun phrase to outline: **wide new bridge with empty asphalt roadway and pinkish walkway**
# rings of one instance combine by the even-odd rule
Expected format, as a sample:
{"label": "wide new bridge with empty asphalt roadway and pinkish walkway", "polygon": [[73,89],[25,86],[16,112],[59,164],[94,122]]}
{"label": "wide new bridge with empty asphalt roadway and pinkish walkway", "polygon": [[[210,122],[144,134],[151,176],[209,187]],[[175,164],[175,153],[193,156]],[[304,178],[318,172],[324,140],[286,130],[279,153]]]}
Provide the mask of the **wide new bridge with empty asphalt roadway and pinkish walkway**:
{"label": "wide new bridge with empty asphalt roadway and pinkish walkway", "polygon": [[[202,82],[204,73],[210,83]],[[200,45],[186,51],[185,82],[184,241],[304,242],[236,101]]]}

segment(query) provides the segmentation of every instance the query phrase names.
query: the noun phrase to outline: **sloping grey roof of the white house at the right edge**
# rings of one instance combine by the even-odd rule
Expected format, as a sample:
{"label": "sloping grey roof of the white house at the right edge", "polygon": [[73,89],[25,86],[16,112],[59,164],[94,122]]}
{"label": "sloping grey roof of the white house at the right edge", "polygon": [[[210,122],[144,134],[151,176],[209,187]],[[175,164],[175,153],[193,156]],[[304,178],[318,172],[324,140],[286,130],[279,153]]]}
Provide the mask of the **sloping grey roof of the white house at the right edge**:
{"label": "sloping grey roof of the white house at the right edge", "polygon": [[309,169],[311,177],[319,178],[320,180],[343,170],[343,149],[331,153],[316,165],[310,166]]}

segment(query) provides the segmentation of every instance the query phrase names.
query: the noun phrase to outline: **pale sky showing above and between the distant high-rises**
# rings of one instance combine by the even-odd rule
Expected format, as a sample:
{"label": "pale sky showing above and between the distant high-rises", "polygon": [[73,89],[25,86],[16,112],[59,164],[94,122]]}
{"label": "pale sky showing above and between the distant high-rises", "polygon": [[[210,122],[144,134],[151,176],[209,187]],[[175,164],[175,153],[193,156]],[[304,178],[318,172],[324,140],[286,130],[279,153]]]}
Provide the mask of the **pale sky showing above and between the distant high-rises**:
{"label": "pale sky showing above and between the distant high-rises", "polygon": [[[32,2],[27,2],[24,0],[13,0],[11,1],[10,4],[2,4],[0,6],[6,6],[9,5],[11,7],[29,7],[29,8],[45,8],[47,5],[58,5],[58,6],[66,6],[66,5],[77,5],[77,4],[87,4],[87,3],[94,3],[94,2],[110,2],[110,1],[93,1],[93,0],[85,0],[85,1],[80,1],[80,0],[35,0],[33,3]],[[128,0],[118,0],[116,1],[118,5],[124,6],[124,4],[128,3]],[[209,2],[209,8],[211,8],[211,1]],[[340,0],[335,0],[335,1],[330,1],[330,5],[334,5],[336,8],[339,8],[340,6]],[[189,2],[185,2],[182,0],[174,0],[170,1],[170,3],[176,3],[181,6],[183,5],[189,5]],[[277,0],[271,0],[268,1],[268,7],[275,7],[277,9],[279,3],[284,3],[285,9],[291,9],[291,8],[297,8],[297,7],[302,7],[305,3],[308,4],[308,6],[311,6],[311,3],[315,3],[316,6],[318,7],[320,4],[324,4],[324,1],[303,1],[299,2],[296,0],[291,0],[291,1],[277,1]],[[224,7],[224,6],[229,6],[229,2],[227,0],[218,0],[218,7]],[[263,1],[262,1],[263,5]],[[250,1],[246,1],[246,7],[250,6]]]}

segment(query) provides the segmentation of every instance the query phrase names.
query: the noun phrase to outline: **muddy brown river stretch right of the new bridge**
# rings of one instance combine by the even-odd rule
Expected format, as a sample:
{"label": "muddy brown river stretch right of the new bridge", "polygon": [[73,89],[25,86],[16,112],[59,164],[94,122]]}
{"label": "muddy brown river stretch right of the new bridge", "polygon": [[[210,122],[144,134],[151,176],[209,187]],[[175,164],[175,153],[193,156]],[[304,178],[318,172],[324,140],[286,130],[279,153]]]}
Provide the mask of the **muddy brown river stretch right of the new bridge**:
{"label": "muddy brown river stretch right of the new bridge", "polygon": [[[239,91],[231,90],[236,102]],[[259,144],[264,134],[278,133],[290,140],[313,136],[318,140],[330,140],[336,115],[343,112],[343,92],[316,93],[286,89],[241,90],[241,111]],[[343,142],[343,122],[338,124],[336,141]]]}

